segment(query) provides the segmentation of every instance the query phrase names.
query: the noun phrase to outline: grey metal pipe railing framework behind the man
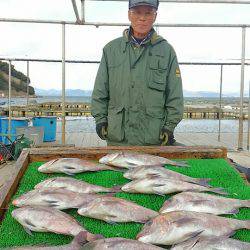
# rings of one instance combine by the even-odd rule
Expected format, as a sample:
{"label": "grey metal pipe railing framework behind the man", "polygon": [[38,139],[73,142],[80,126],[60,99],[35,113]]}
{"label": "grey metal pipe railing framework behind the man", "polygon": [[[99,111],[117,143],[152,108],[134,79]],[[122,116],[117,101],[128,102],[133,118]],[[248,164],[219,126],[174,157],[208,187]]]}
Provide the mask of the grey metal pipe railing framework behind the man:
{"label": "grey metal pipe railing framework behind the man", "polygon": [[[77,5],[75,0],[71,0],[73,5],[73,10],[76,15],[76,21],[54,21],[54,20],[34,20],[34,19],[10,19],[10,18],[0,18],[0,22],[22,22],[22,23],[47,23],[47,24],[61,24],[62,25],[62,143],[65,144],[65,25],[92,25],[95,27],[99,26],[128,26],[129,23],[95,23],[95,22],[86,22],[85,21],[85,0],[81,0],[81,17],[78,13]],[[98,0],[95,0],[98,1]],[[106,0],[99,0],[99,1],[106,1]],[[112,1],[127,1],[127,0],[112,0]],[[198,1],[198,0],[161,0],[161,2],[174,2],[174,3],[213,3],[213,4],[250,4],[250,1]],[[245,50],[246,50],[246,28],[250,27],[250,24],[156,24],[156,27],[221,27],[221,28],[241,28],[242,29],[242,52],[241,52],[241,83],[240,83],[240,110],[239,110],[239,133],[238,133],[238,150],[243,150],[243,96],[244,96],[244,73],[245,73],[245,65],[246,63],[245,58]],[[9,131],[11,130],[11,61],[16,61],[19,59],[14,58],[0,58],[1,60],[9,61]],[[27,61],[27,74],[29,76],[29,62],[31,60],[25,59]],[[47,60],[48,61],[48,60]],[[190,63],[196,64],[196,63]],[[202,64],[205,65],[206,63]],[[187,64],[186,64],[187,65]],[[198,64],[196,64],[198,65]],[[209,64],[207,64],[209,65]],[[223,74],[223,65],[226,64],[213,64],[213,65],[221,65],[221,84],[220,84],[220,98],[221,98],[221,87],[222,87],[222,74]],[[235,64],[231,64],[235,65]],[[238,64],[237,64],[238,65]],[[28,83],[27,83],[28,85]],[[28,96],[27,96],[27,103],[28,103]],[[221,105],[221,102],[220,102]],[[221,106],[220,106],[221,107]],[[250,109],[250,104],[249,104]],[[250,113],[250,111],[248,110]],[[220,131],[220,125],[219,125]],[[220,134],[220,133],[219,133]],[[247,148],[249,149],[249,141],[250,141],[250,118],[248,115],[248,145]],[[220,137],[218,136],[218,140]]]}

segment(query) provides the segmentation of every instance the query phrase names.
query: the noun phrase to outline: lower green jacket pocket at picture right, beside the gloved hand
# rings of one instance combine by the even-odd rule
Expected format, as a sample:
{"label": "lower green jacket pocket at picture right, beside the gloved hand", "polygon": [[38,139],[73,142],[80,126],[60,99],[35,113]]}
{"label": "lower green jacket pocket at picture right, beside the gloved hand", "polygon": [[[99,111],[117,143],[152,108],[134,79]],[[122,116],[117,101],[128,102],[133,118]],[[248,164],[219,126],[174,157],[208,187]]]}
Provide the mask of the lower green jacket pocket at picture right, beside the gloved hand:
{"label": "lower green jacket pocket at picture right, beside the gloved hand", "polygon": [[164,114],[164,110],[161,108],[146,108],[146,144],[160,145],[160,131],[164,123]]}

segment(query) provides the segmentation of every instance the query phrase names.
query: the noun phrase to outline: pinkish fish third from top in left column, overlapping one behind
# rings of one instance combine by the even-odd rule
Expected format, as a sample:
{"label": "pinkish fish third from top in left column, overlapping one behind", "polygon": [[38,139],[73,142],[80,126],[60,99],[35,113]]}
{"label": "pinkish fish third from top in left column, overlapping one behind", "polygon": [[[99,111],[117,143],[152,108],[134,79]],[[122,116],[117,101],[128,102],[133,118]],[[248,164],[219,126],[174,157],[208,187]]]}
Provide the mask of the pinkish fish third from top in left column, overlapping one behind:
{"label": "pinkish fish third from top in left column, overlapping one behind", "polygon": [[76,193],[63,188],[35,189],[14,199],[17,207],[46,206],[59,210],[79,208],[81,204],[97,199],[101,195]]}

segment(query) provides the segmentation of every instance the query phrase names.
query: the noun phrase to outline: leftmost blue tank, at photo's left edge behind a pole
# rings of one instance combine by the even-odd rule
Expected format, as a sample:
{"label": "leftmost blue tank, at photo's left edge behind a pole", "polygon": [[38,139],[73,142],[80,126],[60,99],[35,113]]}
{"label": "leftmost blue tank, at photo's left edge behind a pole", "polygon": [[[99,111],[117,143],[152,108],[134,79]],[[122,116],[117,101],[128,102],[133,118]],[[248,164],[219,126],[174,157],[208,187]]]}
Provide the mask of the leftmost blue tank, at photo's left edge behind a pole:
{"label": "leftmost blue tank, at photo's left edge behind a pole", "polygon": [[[17,127],[27,127],[28,126],[28,119],[26,118],[11,118],[11,130],[10,134],[13,135],[10,137],[10,140],[6,136],[2,136],[2,142],[4,144],[11,144],[12,141],[16,139],[16,128]],[[9,133],[9,118],[4,117],[1,118],[1,133],[8,134]]]}

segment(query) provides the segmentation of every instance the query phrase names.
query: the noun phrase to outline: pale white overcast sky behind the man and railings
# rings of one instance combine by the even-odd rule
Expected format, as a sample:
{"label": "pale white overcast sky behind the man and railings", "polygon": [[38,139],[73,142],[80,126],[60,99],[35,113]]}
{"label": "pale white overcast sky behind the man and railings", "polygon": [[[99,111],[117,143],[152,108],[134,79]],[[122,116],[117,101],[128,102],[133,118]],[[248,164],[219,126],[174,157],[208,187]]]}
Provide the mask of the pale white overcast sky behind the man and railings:
{"label": "pale white overcast sky behind the man and railings", "polygon": [[[80,0],[77,0],[80,3]],[[79,6],[80,7],[80,6]],[[79,8],[80,9],[80,8]],[[86,0],[86,21],[128,22],[128,3]],[[160,3],[158,23],[250,24],[250,5]],[[74,21],[71,0],[0,0],[0,18]],[[125,27],[66,26],[66,59],[100,60],[103,46]],[[61,59],[61,25],[0,22],[0,57]],[[241,57],[240,28],[159,28],[180,62],[230,61]],[[247,29],[246,58],[250,58]],[[240,62],[240,61],[237,61]],[[249,61],[248,61],[249,62]],[[26,73],[26,63],[13,63]],[[66,88],[91,90],[97,64],[67,64]],[[191,91],[219,91],[219,66],[181,66],[183,86]],[[61,64],[31,63],[31,85],[61,88]],[[248,91],[250,67],[246,67]],[[239,92],[240,67],[224,67],[223,92]]]}

